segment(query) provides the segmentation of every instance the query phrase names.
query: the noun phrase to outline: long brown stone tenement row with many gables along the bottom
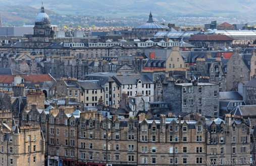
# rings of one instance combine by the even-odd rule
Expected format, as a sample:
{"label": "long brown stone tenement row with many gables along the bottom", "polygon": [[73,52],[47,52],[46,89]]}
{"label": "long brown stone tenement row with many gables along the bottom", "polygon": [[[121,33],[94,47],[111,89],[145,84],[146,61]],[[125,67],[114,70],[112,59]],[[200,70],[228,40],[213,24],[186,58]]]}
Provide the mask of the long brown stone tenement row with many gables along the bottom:
{"label": "long brown stone tenement row with many gables along the bottom", "polygon": [[203,120],[199,115],[198,120],[165,115],[146,120],[144,114],[139,120],[116,115],[110,119],[96,110],[62,107],[45,110],[40,118],[45,156],[54,165],[231,165],[250,159],[250,123],[229,114],[225,120]]}

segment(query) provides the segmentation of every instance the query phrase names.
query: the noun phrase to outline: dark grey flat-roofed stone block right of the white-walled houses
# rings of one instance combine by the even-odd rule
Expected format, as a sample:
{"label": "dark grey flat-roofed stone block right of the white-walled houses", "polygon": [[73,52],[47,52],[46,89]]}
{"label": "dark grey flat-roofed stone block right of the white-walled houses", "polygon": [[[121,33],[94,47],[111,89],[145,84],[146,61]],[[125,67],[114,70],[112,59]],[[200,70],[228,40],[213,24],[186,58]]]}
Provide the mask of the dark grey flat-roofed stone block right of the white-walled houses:
{"label": "dark grey flat-roofed stone block right of the white-walled houses", "polygon": [[163,93],[164,101],[173,111],[219,116],[219,85],[197,80],[176,84],[167,80],[163,82]]}

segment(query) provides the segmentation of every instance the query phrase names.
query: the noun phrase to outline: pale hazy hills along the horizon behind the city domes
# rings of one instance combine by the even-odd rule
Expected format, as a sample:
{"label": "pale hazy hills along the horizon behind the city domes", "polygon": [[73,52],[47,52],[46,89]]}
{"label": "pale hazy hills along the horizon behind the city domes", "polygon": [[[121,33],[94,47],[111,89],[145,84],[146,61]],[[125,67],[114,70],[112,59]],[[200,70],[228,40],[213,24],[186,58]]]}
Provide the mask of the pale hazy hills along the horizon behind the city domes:
{"label": "pale hazy hills along the horizon behind the city domes", "polygon": [[[0,0],[0,4],[41,7],[41,1],[33,0]],[[43,5],[45,9],[59,14],[138,16],[151,10],[155,16],[228,16],[256,20],[254,0],[44,0]]]}

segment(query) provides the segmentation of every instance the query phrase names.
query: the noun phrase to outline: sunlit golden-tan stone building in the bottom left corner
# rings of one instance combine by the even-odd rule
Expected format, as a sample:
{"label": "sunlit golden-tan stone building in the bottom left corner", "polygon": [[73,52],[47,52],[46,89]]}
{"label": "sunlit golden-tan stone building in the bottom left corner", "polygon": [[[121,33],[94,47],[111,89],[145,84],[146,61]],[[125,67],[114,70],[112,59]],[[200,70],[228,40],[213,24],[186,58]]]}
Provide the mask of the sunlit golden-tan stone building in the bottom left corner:
{"label": "sunlit golden-tan stone building in the bottom left corner", "polygon": [[[2,111],[0,137],[3,165],[44,165],[45,140],[39,125],[11,124],[12,112]],[[3,120],[4,118],[5,120]],[[9,119],[9,120],[8,120]]]}

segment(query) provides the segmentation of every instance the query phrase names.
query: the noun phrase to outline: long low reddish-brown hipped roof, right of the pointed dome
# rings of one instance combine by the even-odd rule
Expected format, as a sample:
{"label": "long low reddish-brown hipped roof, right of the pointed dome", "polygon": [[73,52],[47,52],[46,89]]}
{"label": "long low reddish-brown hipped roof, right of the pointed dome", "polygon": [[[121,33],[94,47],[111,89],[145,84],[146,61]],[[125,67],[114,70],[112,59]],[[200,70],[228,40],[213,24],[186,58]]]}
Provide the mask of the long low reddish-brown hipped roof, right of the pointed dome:
{"label": "long low reddish-brown hipped roof, right of the pointed dome", "polygon": [[193,40],[234,40],[233,38],[227,35],[192,35],[189,41]]}

